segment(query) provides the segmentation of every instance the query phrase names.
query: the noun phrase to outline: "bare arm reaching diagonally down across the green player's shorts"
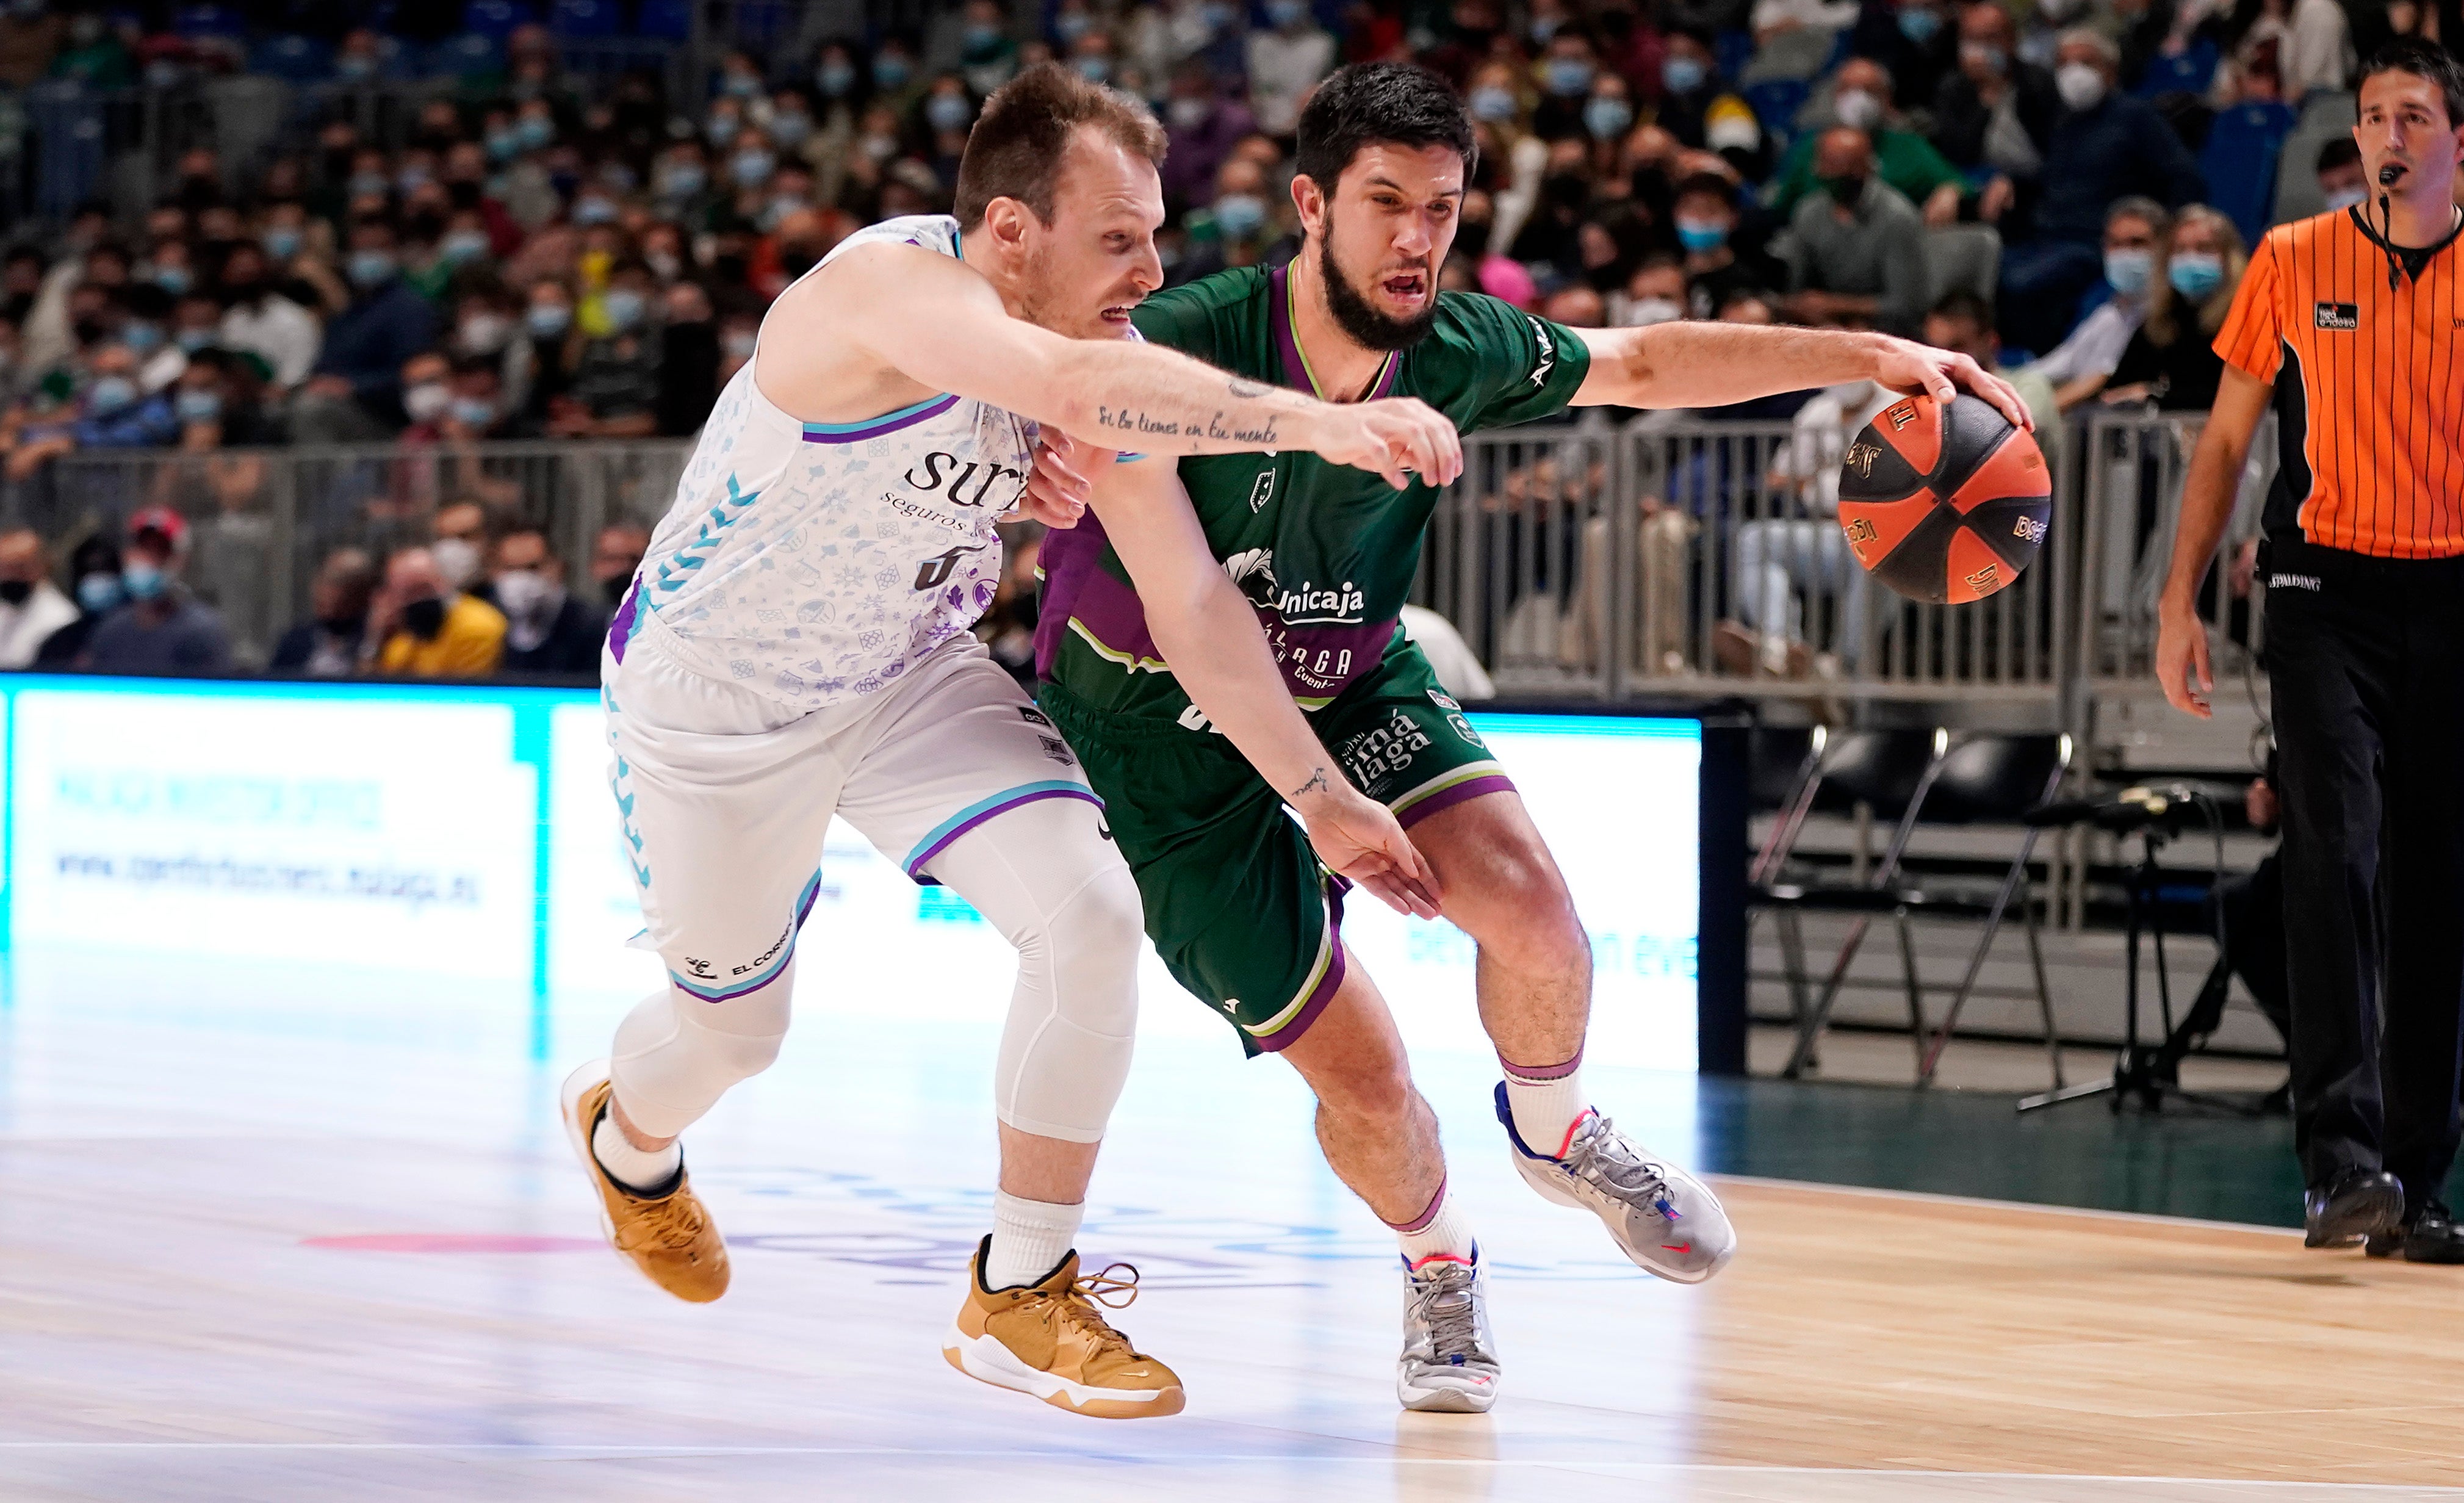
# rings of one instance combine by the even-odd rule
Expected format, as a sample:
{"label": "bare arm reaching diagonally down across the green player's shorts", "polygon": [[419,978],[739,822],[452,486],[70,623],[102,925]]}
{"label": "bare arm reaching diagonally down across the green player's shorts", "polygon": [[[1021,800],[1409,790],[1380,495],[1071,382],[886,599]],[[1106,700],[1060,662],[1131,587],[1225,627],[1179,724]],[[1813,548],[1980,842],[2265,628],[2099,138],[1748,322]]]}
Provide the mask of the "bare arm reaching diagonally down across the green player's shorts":
{"label": "bare arm reaching diagonally down across the green player's shorts", "polygon": [[1434,919],[1437,877],[1387,806],[1343,776],[1294,705],[1257,611],[1207,549],[1175,468],[1111,463],[1106,453],[1067,446],[1060,458],[1092,476],[1096,517],[1138,586],[1146,628],[1200,715],[1301,816],[1328,867],[1397,912]]}

